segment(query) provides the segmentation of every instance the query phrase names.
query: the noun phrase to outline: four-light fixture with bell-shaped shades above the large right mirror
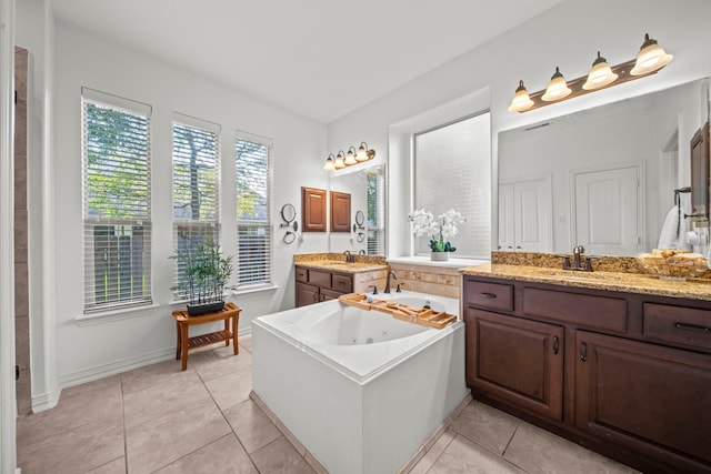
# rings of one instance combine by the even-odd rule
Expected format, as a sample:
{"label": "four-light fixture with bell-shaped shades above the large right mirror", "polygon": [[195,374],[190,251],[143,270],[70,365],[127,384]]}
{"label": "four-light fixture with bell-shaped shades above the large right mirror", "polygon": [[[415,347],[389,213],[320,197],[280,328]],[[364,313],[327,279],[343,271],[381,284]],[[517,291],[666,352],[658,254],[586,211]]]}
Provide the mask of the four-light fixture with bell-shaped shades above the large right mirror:
{"label": "four-light fixture with bell-shaped shades above the large right mirror", "polygon": [[509,107],[510,112],[527,112],[539,109],[555,102],[572,99],[597,90],[609,88],[633,81],[661,70],[673,59],[657,40],[651,40],[649,34],[644,36],[644,42],[635,59],[610,67],[608,61],[600,56],[593,61],[588,75],[565,81],[555,68],[555,73],[547,89],[528,93],[523,87],[523,81],[519,81],[519,87],[513,94],[513,100]]}

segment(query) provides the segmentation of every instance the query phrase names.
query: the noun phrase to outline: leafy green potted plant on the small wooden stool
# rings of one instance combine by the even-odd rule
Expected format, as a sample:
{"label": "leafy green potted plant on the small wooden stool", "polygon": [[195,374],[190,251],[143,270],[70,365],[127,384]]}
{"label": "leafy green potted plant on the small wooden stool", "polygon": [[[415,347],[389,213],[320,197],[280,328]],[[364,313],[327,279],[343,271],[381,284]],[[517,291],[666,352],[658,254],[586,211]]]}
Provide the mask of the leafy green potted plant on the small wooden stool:
{"label": "leafy green potted plant on the small wooden stool", "polygon": [[232,274],[232,255],[224,256],[213,241],[198,246],[176,249],[172,260],[181,270],[180,280],[171,290],[188,299],[188,314],[212,313],[222,310],[222,294]]}

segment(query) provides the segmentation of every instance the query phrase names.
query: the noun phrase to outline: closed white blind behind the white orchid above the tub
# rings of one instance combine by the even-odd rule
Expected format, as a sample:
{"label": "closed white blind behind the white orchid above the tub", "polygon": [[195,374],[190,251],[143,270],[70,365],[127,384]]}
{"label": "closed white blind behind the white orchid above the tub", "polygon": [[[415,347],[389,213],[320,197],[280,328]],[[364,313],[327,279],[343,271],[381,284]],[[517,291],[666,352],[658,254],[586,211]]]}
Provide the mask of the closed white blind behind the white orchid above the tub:
{"label": "closed white blind behind the white orchid above the tub", "polygon": [[[458,258],[489,258],[491,251],[491,122],[484,112],[414,135],[414,209],[434,218],[450,209],[467,222],[449,241]],[[413,210],[414,210],[413,209]],[[417,254],[429,238],[413,238]]]}

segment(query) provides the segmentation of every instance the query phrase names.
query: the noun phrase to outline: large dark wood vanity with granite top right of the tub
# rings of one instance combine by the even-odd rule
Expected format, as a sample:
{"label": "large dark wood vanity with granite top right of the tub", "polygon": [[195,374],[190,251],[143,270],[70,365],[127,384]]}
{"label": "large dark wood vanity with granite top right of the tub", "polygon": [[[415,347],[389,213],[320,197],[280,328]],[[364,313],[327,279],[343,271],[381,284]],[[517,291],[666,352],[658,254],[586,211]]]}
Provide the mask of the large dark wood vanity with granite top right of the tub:
{"label": "large dark wood vanity with granite top right of the tub", "polygon": [[475,399],[644,472],[711,472],[711,281],[492,262],[462,271]]}

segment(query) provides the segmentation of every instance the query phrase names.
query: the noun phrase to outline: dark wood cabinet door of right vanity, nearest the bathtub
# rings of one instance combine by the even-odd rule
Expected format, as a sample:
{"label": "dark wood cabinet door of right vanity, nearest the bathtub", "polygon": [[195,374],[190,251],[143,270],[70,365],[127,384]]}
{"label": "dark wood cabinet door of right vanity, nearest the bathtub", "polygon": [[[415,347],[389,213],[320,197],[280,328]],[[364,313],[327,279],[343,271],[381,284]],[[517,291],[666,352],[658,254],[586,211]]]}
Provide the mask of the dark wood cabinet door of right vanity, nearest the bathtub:
{"label": "dark wood cabinet door of right vanity, nearest the bathtub", "polygon": [[467,385],[549,418],[563,417],[563,327],[467,309]]}

